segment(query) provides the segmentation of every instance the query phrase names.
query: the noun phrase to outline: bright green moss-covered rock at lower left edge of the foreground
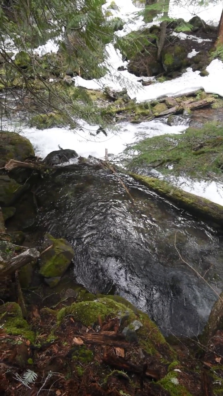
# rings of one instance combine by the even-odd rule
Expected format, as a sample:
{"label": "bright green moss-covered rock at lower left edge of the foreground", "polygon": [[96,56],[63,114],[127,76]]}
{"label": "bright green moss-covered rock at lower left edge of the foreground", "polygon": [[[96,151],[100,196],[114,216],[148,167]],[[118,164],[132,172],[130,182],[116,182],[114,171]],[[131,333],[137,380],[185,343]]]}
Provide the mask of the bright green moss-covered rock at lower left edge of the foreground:
{"label": "bright green moss-covered rock at lower left edge of the foreground", "polygon": [[6,303],[0,306],[0,323],[6,334],[20,335],[31,343],[34,342],[35,334],[27,321],[23,319],[21,308],[17,303]]}

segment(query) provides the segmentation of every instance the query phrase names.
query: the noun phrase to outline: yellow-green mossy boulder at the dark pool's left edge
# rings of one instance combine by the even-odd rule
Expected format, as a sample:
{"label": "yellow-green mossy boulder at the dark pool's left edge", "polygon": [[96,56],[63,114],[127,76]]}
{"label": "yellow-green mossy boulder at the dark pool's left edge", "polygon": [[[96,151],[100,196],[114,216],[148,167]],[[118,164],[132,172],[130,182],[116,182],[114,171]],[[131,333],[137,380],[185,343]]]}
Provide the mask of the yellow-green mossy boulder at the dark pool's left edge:
{"label": "yellow-green mossy boulder at the dark pool's left edge", "polygon": [[[59,282],[60,277],[69,267],[75,253],[67,240],[63,238],[56,239],[50,234],[45,235],[44,245],[52,245],[52,248],[40,257],[39,272],[44,278],[58,278]],[[53,286],[56,285],[54,284]]]}

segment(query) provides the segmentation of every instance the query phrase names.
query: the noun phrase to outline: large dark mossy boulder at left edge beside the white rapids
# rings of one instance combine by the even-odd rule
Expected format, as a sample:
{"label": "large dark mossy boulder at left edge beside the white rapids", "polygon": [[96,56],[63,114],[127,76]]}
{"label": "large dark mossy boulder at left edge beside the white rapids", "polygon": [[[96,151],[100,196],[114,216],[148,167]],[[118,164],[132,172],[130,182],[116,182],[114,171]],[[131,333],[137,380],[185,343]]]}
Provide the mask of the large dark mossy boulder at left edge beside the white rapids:
{"label": "large dark mossy boulder at left edge beside the white rapids", "polygon": [[35,152],[29,139],[15,132],[2,132],[0,139],[0,167],[9,160],[25,161]]}

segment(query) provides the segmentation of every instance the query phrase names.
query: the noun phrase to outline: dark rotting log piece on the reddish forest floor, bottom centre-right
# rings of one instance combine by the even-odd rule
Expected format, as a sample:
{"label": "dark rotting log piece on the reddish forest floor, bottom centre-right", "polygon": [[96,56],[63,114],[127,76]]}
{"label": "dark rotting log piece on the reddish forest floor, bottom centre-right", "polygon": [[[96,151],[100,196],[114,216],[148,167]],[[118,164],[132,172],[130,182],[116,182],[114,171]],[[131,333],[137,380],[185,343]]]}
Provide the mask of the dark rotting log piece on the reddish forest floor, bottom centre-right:
{"label": "dark rotting log piece on the reddish forest floor, bottom centre-right", "polygon": [[108,364],[108,366],[112,366],[120,371],[121,370],[128,371],[139,375],[144,374],[144,377],[153,379],[155,381],[159,381],[160,379],[160,371],[155,369],[150,369],[148,367],[138,366],[136,364],[128,362],[127,360],[119,356],[104,354],[103,362],[105,364]]}

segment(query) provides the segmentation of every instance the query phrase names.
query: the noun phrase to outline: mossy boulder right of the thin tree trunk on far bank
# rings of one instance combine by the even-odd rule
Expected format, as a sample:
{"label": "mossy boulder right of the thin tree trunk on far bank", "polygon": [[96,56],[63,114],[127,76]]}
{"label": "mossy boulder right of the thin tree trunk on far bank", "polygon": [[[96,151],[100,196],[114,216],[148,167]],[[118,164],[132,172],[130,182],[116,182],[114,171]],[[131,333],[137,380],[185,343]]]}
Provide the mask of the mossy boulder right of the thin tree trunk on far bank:
{"label": "mossy boulder right of the thin tree trunk on far bank", "polygon": [[179,70],[181,67],[186,67],[190,64],[190,60],[187,57],[187,51],[183,44],[175,44],[165,47],[161,53],[161,60],[163,69],[167,73]]}

